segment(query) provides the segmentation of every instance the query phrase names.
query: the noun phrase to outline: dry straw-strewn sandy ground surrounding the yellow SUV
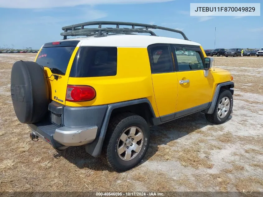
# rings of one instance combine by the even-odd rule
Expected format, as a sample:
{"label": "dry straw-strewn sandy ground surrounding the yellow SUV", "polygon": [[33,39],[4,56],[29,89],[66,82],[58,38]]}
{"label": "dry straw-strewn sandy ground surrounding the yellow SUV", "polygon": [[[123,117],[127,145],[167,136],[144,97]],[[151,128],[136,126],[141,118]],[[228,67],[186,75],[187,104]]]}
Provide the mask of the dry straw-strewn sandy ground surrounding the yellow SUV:
{"label": "dry straw-strewn sandy ground surrounding the yellow SUV", "polygon": [[263,191],[263,58],[215,57],[234,77],[229,120],[202,113],[151,128],[139,166],[111,171],[84,147],[58,153],[29,138],[10,96],[12,64],[36,54],[0,54],[0,191]]}

